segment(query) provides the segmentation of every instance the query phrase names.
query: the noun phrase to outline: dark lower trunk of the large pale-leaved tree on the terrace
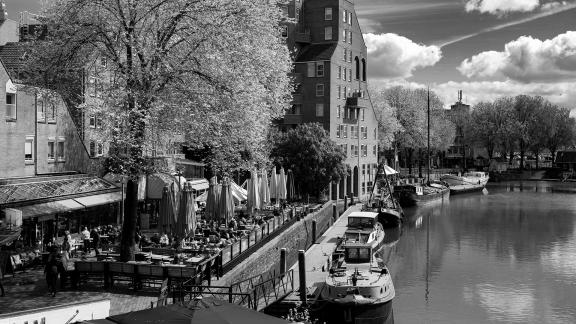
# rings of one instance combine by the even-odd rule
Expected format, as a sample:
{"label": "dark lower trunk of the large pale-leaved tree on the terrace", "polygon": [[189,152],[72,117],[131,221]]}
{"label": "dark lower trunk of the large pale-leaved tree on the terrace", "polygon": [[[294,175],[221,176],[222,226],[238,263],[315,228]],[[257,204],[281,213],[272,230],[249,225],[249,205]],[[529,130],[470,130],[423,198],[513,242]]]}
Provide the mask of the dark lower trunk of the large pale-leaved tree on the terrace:
{"label": "dark lower trunk of the large pale-leaved tree on the terrace", "polygon": [[120,261],[134,261],[136,252],[136,223],[138,220],[138,180],[130,179],[126,185],[124,223],[120,242]]}

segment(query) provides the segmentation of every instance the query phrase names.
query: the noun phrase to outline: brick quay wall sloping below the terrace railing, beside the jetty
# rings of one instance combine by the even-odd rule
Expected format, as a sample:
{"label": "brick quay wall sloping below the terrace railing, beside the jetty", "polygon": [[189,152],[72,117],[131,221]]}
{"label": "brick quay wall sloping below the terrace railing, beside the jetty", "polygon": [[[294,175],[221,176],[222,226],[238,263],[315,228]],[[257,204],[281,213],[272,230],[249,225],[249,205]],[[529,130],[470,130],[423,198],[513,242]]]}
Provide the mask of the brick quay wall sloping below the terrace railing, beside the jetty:
{"label": "brick quay wall sloping below the terrace railing, beside the jetty", "polygon": [[[312,223],[316,221],[317,239],[334,224],[332,218],[332,205],[335,201],[329,201],[313,213],[296,221],[290,228],[272,239],[259,250],[255,251],[245,261],[230,270],[219,284],[230,285],[250,277],[267,273],[268,271],[280,271],[280,249],[286,248],[287,269],[298,261],[298,250],[307,250],[313,244]],[[344,202],[338,201],[337,213],[340,216],[344,212]]]}

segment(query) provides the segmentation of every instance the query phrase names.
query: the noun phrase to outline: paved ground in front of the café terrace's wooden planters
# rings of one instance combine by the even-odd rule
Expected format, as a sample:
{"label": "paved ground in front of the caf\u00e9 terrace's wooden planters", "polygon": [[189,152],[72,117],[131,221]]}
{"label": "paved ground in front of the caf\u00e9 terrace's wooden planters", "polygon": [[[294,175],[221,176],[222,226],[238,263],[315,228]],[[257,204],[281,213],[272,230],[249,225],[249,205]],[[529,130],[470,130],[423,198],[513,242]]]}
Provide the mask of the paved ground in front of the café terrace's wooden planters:
{"label": "paved ground in front of the caf\u00e9 terrace's wooden planters", "polygon": [[[59,289],[56,297],[48,293],[42,266],[7,274],[2,283],[6,296],[0,297],[0,314],[24,311],[35,308],[57,306],[78,301],[110,299],[110,315],[122,314],[156,306],[158,288],[134,293],[126,286],[104,290],[98,284],[90,284],[79,289]],[[58,280],[60,288],[60,280]]]}

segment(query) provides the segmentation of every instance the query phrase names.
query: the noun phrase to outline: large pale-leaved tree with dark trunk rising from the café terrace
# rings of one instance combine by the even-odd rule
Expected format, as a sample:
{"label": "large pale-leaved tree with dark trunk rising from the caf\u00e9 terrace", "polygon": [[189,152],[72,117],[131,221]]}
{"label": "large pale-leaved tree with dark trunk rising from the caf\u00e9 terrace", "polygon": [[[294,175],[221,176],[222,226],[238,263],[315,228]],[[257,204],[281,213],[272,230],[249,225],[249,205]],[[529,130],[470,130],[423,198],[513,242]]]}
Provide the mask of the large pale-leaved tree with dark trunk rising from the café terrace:
{"label": "large pale-leaved tree with dark trunk rising from the caf\u00e9 terrace", "polygon": [[274,0],[57,0],[46,17],[28,65],[35,84],[65,91],[60,81],[90,59],[108,62],[98,109],[115,147],[109,165],[129,178],[124,261],[134,258],[137,177],[152,167],[153,144],[182,135],[212,147],[224,170],[240,151],[257,156],[288,106],[291,61]]}

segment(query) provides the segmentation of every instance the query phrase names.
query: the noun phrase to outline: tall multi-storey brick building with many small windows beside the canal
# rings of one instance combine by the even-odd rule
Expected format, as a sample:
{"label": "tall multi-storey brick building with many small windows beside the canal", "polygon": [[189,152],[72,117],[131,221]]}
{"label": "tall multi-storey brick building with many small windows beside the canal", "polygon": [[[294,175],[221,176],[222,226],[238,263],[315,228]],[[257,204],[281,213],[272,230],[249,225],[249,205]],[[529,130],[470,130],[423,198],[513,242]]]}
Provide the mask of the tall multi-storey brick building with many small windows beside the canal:
{"label": "tall multi-storey brick building with many small windows beside the canal", "polygon": [[317,122],[346,153],[348,177],[330,188],[332,199],[366,197],[378,162],[378,123],[367,89],[368,58],[352,0],[292,0],[296,21],[283,31],[295,52],[296,90],[281,122],[288,129]]}

